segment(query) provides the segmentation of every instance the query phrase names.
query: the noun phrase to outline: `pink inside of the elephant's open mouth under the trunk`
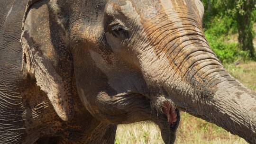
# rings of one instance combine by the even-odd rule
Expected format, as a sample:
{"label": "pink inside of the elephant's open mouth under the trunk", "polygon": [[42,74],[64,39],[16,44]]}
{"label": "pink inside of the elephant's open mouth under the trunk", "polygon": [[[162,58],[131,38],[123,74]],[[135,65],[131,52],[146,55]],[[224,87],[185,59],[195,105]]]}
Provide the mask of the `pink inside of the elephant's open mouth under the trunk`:
{"label": "pink inside of the elephant's open mouth under the trunk", "polygon": [[163,107],[163,111],[167,117],[167,121],[169,124],[173,125],[174,122],[177,121],[177,114],[175,112],[175,108],[171,107],[170,104],[165,103]]}

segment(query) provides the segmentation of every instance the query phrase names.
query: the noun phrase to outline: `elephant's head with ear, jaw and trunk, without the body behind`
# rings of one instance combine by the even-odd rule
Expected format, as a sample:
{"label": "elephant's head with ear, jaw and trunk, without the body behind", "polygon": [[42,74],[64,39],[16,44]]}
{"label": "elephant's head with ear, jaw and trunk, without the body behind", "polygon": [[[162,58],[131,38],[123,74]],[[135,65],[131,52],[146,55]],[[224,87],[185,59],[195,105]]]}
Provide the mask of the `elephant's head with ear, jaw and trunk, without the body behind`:
{"label": "elephant's head with ear, jaw and trunk, without the body behind", "polygon": [[23,71],[66,121],[75,81],[93,117],[153,120],[166,144],[175,139],[176,108],[256,143],[256,93],[210,49],[203,13],[200,0],[32,0],[21,37]]}

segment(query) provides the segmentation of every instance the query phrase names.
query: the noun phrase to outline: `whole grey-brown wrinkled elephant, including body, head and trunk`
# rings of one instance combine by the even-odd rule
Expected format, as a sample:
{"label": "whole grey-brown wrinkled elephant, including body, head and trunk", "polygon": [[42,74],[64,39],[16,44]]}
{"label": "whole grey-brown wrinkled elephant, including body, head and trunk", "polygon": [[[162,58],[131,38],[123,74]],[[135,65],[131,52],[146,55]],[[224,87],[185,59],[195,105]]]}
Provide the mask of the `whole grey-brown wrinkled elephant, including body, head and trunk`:
{"label": "whole grey-brown wrinkled elephant, including body, head and trunk", "polygon": [[200,0],[0,0],[0,144],[114,144],[180,110],[256,144],[256,92],[203,34]]}

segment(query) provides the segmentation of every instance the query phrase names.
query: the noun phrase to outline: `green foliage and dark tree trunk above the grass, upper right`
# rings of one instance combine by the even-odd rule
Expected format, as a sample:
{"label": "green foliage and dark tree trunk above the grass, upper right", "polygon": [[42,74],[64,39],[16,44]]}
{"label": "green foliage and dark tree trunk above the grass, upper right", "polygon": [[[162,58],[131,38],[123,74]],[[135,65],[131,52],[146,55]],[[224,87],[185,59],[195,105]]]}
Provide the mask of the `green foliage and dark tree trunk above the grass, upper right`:
{"label": "green foliage and dark tree trunk above the grass, upper right", "polygon": [[[228,58],[232,62],[236,57],[255,57],[253,24],[256,21],[256,0],[202,2],[205,7],[205,35],[220,60]],[[239,45],[224,42],[235,33],[238,33]]]}

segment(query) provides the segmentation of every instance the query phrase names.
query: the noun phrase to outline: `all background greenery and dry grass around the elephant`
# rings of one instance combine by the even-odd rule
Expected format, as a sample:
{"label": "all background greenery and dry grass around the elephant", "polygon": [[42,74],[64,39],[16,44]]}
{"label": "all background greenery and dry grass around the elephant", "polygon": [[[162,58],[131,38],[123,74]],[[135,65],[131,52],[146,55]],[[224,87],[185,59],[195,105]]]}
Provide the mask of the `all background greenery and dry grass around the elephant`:
{"label": "all background greenery and dry grass around the elephant", "polygon": [[[226,69],[256,90],[256,0],[201,0],[205,7],[204,34]],[[116,144],[164,144],[151,122],[120,125]],[[181,114],[176,144],[247,144],[226,130]]]}

